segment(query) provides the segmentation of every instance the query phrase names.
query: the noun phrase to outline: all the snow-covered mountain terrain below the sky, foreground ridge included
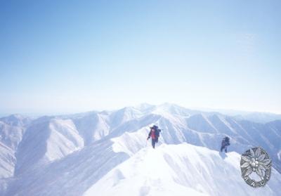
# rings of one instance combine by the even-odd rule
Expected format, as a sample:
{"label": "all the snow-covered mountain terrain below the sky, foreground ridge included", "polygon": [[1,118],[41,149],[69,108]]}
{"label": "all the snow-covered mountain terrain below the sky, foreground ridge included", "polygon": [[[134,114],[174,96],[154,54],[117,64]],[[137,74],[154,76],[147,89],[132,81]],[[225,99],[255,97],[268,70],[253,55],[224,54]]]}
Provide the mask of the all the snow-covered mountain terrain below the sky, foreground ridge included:
{"label": "all the snow-covered mountain terrain below the sky, foreground ridge included", "polygon": [[[163,129],[156,150],[146,142],[152,124]],[[231,140],[227,155],[217,151],[223,136]],[[280,141],[280,120],[261,124],[171,104],[12,115],[0,119],[0,195],[278,195]],[[265,188],[241,177],[240,154],[253,146],[273,159]]]}

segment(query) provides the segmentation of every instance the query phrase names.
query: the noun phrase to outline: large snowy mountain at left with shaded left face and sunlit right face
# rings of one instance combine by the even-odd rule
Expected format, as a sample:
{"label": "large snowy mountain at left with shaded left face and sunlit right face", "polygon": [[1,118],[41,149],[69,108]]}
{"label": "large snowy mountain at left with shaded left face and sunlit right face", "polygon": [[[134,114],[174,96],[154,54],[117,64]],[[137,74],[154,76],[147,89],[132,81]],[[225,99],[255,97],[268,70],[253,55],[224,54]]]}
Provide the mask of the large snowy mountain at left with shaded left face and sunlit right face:
{"label": "large snowy mountain at left with shaded left face and sunlit right face", "polygon": [[60,159],[83,148],[84,141],[71,120],[44,118],[33,122],[25,132],[16,153],[15,172]]}

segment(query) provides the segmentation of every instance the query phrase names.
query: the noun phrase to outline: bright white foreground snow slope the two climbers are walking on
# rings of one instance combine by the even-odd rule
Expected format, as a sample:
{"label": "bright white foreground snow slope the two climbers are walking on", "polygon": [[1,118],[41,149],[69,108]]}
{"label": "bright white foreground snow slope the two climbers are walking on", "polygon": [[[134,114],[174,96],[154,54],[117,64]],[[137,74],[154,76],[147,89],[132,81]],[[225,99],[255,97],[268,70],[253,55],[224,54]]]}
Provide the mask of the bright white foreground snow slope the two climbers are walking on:
{"label": "bright white foreground snow slope the two climbers are walking on", "polygon": [[187,143],[163,144],[155,150],[143,148],[84,195],[278,195],[280,185],[281,175],[273,169],[265,188],[249,187],[236,152],[225,155]]}

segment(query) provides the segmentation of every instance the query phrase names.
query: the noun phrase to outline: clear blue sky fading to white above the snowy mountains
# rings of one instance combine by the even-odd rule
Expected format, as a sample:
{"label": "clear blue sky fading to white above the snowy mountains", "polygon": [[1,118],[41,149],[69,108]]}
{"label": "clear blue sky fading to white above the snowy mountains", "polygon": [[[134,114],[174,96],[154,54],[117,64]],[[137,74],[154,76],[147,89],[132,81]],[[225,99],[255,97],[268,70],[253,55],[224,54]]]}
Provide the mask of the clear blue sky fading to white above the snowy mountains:
{"label": "clear blue sky fading to white above the snowy mountains", "polygon": [[0,1],[0,113],[281,113],[281,1]]}

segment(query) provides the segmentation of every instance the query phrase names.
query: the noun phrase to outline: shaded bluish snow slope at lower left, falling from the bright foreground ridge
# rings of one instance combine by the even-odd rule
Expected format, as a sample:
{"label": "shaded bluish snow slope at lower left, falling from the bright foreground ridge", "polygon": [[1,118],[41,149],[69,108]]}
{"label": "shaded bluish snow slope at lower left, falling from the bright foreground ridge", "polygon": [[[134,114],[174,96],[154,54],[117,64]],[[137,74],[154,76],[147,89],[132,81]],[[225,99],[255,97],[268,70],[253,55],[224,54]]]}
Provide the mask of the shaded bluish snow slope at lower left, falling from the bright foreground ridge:
{"label": "shaded bluish snow slope at lower left, falling from the bright foreground ridge", "polygon": [[2,195],[82,195],[128,158],[126,153],[112,149],[112,141],[97,141],[63,159],[18,175],[9,182],[8,189]]}

